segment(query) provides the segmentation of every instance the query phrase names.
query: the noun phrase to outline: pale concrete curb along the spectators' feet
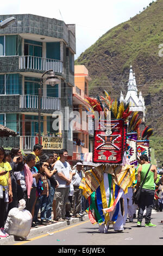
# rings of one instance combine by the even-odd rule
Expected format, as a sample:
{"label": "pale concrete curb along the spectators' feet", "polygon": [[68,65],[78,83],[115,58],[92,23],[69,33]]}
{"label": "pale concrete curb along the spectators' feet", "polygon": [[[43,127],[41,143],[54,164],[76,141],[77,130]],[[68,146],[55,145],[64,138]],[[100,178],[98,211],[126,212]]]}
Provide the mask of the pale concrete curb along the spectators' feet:
{"label": "pale concrete curb along the spectators' feet", "polygon": [[[85,215],[85,216],[79,217],[79,218],[71,218],[71,220],[66,220],[64,222],[58,222],[58,223],[48,224],[46,226],[31,228],[30,232],[27,236],[27,240],[30,239],[30,237],[32,237],[34,235],[39,236],[39,235],[42,235],[43,233],[47,233],[48,231],[54,231],[55,229],[59,229],[61,227],[66,227],[73,223],[77,223],[80,221],[87,221],[87,220],[89,220],[89,216]],[[11,242],[17,243],[19,241],[14,240],[14,235],[10,235],[8,237],[0,239],[0,245],[8,245],[8,243],[11,243]]]}

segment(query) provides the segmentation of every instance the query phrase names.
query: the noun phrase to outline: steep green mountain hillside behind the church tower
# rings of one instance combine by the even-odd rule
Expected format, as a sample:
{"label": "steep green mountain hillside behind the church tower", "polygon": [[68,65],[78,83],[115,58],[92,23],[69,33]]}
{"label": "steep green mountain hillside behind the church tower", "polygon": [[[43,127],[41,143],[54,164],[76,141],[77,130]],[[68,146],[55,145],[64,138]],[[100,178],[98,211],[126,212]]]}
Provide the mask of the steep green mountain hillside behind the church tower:
{"label": "steep green mountain hillside behind the church tower", "polygon": [[150,3],[142,13],[101,36],[75,64],[89,70],[90,96],[102,94],[105,89],[113,99],[120,97],[121,90],[126,96],[129,68],[133,66],[138,91],[145,98],[146,125],[155,129],[151,145],[157,160],[163,163],[162,13],[163,0]]}

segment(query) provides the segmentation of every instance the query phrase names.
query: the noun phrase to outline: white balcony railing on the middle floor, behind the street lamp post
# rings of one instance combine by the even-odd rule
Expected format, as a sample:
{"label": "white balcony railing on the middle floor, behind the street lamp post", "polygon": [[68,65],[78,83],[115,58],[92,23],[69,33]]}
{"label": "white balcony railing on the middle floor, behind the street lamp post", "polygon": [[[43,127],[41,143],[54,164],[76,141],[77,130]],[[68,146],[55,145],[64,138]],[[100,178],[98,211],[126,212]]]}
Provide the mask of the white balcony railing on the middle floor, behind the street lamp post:
{"label": "white balcony railing on the middle floor, behind the street lamp post", "polygon": [[[20,95],[20,108],[38,109],[39,97],[37,95]],[[60,109],[60,99],[54,97],[41,97],[41,109]]]}

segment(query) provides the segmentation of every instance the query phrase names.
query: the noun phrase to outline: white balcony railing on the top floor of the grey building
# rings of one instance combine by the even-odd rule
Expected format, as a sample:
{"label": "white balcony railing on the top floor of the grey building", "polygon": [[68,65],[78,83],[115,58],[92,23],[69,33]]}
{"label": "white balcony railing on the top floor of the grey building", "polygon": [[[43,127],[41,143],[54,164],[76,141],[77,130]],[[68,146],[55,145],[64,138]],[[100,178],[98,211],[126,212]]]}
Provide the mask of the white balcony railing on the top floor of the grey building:
{"label": "white balcony railing on the top floor of the grey building", "polygon": [[20,69],[35,69],[35,70],[49,70],[53,69],[54,72],[62,73],[63,64],[60,60],[47,59],[36,56],[20,56],[19,57]]}

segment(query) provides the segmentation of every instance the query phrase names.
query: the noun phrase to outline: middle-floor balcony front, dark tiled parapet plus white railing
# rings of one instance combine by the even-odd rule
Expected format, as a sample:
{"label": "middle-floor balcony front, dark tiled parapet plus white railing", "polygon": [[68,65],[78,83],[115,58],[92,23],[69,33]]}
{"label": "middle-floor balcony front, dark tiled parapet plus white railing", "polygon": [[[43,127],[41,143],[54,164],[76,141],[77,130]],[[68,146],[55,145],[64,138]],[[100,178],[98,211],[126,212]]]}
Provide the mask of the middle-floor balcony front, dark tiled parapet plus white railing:
{"label": "middle-floor balcony front, dark tiled parapet plus white railing", "polygon": [[[39,99],[37,95],[0,95],[0,112],[37,112]],[[41,112],[53,113],[61,108],[60,98],[41,97]]]}

